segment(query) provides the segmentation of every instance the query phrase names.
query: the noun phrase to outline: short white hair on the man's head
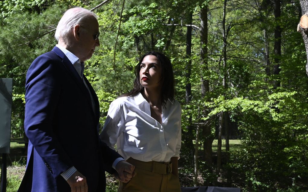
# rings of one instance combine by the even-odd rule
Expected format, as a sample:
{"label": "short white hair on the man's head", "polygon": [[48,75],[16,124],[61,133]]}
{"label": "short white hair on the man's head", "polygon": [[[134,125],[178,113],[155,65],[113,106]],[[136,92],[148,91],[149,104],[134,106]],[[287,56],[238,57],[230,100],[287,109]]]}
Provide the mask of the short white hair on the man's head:
{"label": "short white hair on the man's head", "polygon": [[64,43],[69,44],[69,34],[73,27],[77,24],[85,24],[87,19],[91,17],[97,18],[93,12],[81,7],[75,7],[67,10],[58,23],[55,32],[56,40],[59,42],[61,39]]}

